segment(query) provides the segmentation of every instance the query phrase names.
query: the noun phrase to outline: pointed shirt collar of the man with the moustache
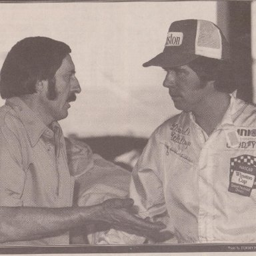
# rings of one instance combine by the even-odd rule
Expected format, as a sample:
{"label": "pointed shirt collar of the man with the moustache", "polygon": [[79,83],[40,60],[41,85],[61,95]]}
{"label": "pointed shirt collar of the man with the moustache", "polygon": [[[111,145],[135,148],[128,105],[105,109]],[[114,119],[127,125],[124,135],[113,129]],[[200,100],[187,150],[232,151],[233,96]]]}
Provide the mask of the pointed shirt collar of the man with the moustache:
{"label": "pointed shirt collar of the man with the moustache", "polygon": [[[53,136],[53,131],[51,131],[51,129],[49,129],[49,127],[43,123],[39,116],[32,111],[32,109],[30,109],[19,97],[11,97],[7,99],[5,105],[9,105],[23,123],[32,147],[35,146],[43,133]],[[57,125],[59,126],[58,123]]]}

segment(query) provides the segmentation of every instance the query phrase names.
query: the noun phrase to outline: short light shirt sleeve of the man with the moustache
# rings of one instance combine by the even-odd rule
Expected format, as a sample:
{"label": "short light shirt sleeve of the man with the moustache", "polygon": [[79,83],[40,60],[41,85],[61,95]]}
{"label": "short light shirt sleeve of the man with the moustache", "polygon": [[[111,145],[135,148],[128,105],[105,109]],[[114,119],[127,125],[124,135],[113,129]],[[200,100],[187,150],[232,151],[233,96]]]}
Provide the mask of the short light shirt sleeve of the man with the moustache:
{"label": "short light shirt sleeve of the man with the moustache", "polygon": [[0,127],[0,206],[22,206],[25,184],[21,145],[15,133],[3,125]]}

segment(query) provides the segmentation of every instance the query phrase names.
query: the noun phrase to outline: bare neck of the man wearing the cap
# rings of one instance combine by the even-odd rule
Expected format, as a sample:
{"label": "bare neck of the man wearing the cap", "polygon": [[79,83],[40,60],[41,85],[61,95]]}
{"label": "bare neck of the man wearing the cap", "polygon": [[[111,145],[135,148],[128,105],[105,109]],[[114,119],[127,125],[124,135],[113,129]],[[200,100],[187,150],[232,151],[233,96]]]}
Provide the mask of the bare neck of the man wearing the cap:
{"label": "bare neck of the man wearing the cap", "polygon": [[215,94],[205,99],[204,104],[193,111],[195,121],[207,135],[211,135],[215,127],[223,119],[229,107],[230,98],[228,93],[215,92]]}

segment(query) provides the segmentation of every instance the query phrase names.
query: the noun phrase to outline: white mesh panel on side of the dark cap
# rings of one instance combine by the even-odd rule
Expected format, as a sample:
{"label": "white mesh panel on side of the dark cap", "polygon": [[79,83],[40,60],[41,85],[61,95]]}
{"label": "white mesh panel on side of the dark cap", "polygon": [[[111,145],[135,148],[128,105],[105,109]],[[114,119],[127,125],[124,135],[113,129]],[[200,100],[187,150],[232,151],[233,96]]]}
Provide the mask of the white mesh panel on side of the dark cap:
{"label": "white mesh panel on side of the dark cap", "polygon": [[213,23],[203,20],[197,21],[195,54],[214,59],[221,59],[221,33]]}

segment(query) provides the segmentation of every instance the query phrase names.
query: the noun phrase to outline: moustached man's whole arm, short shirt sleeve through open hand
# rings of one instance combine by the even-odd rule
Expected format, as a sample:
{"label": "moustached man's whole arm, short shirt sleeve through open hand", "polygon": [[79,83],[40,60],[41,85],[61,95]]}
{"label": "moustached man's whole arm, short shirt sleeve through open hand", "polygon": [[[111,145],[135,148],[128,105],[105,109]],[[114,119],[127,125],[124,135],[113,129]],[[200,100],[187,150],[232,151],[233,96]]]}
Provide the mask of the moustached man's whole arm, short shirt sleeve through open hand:
{"label": "moustached man's whole arm, short shirt sleeve through open hand", "polygon": [[[0,133],[1,135],[1,133]],[[128,213],[129,199],[109,199],[88,207],[23,207],[25,183],[19,143],[0,136],[0,242],[28,241],[52,237],[88,223],[109,223],[115,229],[132,229],[145,236],[155,235],[163,224],[143,221]],[[11,143],[11,142],[16,143]],[[8,147],[7,147],[8,146]],[[17,147],[14,148],[13,147]]]}

